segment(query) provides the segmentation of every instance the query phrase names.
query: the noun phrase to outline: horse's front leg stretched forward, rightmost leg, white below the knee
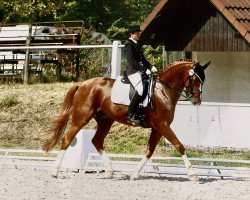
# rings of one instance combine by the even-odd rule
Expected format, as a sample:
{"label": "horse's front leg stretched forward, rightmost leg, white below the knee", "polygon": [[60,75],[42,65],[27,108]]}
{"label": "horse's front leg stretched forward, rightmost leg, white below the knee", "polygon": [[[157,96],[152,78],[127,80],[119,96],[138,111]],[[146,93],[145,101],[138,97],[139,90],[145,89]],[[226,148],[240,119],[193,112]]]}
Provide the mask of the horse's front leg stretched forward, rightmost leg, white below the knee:
{"label": "horse's front leg stretched forward, rightmost leg, white below the knee", "polygon": [[185,164],[186,169],[187,169],[188,179],[191,181],[197,181],[198,177],[197,177],[195,171],[193,170],[193,167],[192,167],[190,161],[187,158],[186,150],[185,150],[184,146],[182,145],[182,143],[179,141],[179,139],[176,137],[173,130],[169,126],[167,126],[162,130],[161,133],[171,144],[173,144],[175,146],[177,151],[182,155],[182,159],[183,159],[184,164]]}

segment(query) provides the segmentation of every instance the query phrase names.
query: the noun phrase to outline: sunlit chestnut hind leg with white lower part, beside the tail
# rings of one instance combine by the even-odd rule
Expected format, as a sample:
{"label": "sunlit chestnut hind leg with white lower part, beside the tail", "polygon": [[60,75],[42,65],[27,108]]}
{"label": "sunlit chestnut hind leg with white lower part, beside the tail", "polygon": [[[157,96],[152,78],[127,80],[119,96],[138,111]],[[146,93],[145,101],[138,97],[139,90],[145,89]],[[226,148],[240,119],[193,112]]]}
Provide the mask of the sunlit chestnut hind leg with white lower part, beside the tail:
{"label": "sunlit chestnut hind leg with white lower part, beside the tail", "polygon": [[76,134],[81,130],[83,126],[85,126],[89,120],[92,118],[93,111],[89,110],[85,112],[84,109],[77,110],[72,112],[72,124],[68,130],[68,132],[62,138],[62,144],[60,152],[57,155],[54,169],[52,171],[52,176],[57,178],[59,170],[61,168],[61,164],[63,161],[63,157],[66,149],[69,147],[70,143],[76,136]]}

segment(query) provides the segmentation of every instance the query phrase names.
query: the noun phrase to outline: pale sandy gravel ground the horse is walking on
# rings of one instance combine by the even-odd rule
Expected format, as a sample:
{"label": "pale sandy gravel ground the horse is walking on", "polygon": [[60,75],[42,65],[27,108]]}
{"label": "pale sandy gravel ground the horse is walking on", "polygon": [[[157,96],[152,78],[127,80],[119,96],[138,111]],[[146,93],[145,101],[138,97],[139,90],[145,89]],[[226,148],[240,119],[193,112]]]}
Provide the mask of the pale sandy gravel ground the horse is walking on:
{"label": "pale sandy gravel ground the horse is walking on", "polygon": [[58,179],[48,170],[0,168],[2,200],[249,200],[250,180],[142,176],[130,181],[128,174],[61,172]]}

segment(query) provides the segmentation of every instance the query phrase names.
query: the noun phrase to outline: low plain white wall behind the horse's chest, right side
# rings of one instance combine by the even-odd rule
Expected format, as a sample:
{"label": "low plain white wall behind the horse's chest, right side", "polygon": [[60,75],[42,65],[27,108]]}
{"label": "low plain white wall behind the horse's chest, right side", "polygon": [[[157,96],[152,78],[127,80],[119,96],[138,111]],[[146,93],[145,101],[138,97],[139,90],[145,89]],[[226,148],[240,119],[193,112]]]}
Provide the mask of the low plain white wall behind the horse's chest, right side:
{"label": "low plain white wall behind the horse's chest, right side", "polygon": [[171,125],[191,147],[250,149],[250,104],[179,102]]}

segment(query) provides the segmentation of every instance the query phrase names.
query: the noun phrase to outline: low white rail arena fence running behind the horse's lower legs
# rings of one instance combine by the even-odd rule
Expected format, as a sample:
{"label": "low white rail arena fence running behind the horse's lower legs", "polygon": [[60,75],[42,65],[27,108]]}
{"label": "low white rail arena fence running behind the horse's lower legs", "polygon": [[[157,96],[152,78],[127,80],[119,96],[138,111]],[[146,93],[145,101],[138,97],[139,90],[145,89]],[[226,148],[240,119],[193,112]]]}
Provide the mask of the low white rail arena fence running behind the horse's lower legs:
{"label": "low white rail arena fence running behind the horse's lower legs", "polygon": [[[22,168],[51,169],[59,151],[52,151],[49,155],[42,150],[0,149],[0,166]],[[143,155],[108,154],[114,171],[132,172]],[[214,158],[190,158],[197,175],[200,177],[220,178],[250,178],[250,160],[228,160]],[[197,163],[197,164],[194,164]],[[230,166],[225,166],[230,164]],[[238,167],[244,164],[246,167]],[[234,166],[235,165],[235,166]],[[83,170],[100,172],[105,170],[98,153],[88,153],[84,165],[79,169],[62,167],[62,170]],[[180,157],[153,156],[144,167],[142,174],[185,176],[186,169]]]}

